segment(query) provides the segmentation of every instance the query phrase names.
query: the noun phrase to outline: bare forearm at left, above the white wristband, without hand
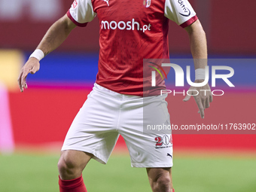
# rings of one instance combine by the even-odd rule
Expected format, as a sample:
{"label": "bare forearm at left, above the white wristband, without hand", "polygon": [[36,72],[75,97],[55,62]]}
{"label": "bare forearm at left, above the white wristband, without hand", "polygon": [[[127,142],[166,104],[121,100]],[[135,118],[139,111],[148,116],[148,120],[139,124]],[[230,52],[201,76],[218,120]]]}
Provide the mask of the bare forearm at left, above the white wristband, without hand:
{"label": "bare forearm at left, above the white wristband, without hand", "polygon": [[55,50],[56,47],[59,47],[74,28],[75,24],[65,15],[50,26],[50,29],[48,29],[44,38],[41,40],[40,44],[38,44],[37,49],[41,49],[44,52],[44,56],[46,56],[51,51]]}

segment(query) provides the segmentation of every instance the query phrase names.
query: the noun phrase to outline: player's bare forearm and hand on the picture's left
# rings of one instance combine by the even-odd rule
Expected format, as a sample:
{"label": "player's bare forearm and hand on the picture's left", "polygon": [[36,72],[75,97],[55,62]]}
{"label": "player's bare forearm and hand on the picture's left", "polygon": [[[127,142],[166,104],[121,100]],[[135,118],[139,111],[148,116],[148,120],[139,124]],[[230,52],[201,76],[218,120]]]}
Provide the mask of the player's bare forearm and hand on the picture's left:
{"label": "player's bare forearm and hand on the picture's left", "polygon": [[[50,29],[48,29],[44,38],[41,40],[40,44],[38,44],[37,49],[41,50],[44,53],[44,56],[46,56],[51,51],[55,50],[56,47],[59,47],[75,27],[75,23],[73,23],[67,15],[63,16],[50,26]],[[35,72],[38,72],[39,68],[39,60],[35,57],[30,57],[23,68],[20,69],[18,84],[21,92],[23,92],[24,88],[27,88],[27,75],[29,75],[29,73],[35,74]]]}

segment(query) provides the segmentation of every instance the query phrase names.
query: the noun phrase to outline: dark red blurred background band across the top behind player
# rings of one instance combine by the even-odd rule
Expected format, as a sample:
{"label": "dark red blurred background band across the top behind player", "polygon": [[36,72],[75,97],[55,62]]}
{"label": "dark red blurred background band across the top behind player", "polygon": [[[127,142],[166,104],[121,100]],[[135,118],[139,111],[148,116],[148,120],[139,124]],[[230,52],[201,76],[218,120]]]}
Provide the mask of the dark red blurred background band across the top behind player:
{"label": "dark red blurred background band across the top behind player", "polygon": [[[209,53],[255,54],[255,1],[190,0],[190,3],[206,31]],[[72,0],[1,0],[0,47],[34,50],[50,25],[66,14],[71,5]],[[37,7],[39,11],[33,11]],[[97,51],[98,39],[99,20],[95,18],[86,28],[75,29],[58,51]],[[171,53],[190,53],[186,32],[172,22],[169,45]]]}

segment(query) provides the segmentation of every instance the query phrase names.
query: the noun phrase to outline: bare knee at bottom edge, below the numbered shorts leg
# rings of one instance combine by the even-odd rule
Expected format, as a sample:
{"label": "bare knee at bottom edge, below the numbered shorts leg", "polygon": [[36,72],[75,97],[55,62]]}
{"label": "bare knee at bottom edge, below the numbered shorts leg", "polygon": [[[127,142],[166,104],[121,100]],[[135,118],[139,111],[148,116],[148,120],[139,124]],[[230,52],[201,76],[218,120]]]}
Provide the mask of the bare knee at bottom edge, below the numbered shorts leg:
{"label": "bare knee at bottom edge, below the numbered shorts leg", "polygon": [[169,175],[160,175],[153,183],[153,191],[172,192],[171,178]]}

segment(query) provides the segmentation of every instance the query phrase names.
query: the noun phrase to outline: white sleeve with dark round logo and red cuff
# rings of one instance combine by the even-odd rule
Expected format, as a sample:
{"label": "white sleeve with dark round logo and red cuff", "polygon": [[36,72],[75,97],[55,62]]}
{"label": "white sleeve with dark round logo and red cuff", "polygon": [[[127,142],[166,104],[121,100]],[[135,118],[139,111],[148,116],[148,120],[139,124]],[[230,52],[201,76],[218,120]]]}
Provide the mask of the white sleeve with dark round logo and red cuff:
{"label": "white sleeve with dark round logo and red cuff", "polygon": [[183,28],[190,26],[198,19],[196,12],[187,0],[166,0],[164,16]]}

